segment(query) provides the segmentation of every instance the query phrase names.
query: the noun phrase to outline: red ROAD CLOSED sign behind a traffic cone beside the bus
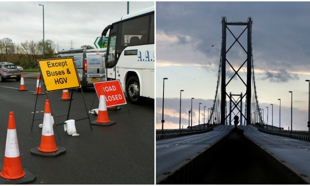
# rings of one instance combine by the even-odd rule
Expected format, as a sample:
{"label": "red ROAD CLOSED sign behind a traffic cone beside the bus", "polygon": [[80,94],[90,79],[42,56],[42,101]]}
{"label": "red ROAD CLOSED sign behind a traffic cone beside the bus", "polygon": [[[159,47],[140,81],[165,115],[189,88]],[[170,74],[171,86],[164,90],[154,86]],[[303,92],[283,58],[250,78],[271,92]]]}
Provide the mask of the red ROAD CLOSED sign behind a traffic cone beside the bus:
{"label": "red ROAD CLOSED sign behind a traffic cone beside the bus", "polygon": [[127,104],[119,80],[94,82],[93,86],[96,90],[98,98],[100,97],[101,88],[103,88],[106,106]]}

